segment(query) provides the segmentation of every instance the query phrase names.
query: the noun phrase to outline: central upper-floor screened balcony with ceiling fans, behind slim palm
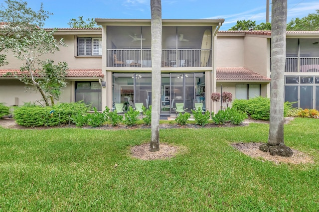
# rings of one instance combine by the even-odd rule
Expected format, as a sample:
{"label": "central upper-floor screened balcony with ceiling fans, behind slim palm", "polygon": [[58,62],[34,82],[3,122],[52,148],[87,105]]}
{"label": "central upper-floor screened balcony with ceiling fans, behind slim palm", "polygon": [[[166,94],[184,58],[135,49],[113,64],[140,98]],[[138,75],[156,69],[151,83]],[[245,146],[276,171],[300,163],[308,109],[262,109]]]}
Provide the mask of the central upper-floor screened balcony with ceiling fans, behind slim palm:
{"label": "central upper-floor screened balcony with ceiling fans, behind slim palm", "polygon": [[[211,67],[211,31],[211,26],[163,26],[161,67]],[[108,26],[107,67],[151,68],[151,41],[151,26]]]}

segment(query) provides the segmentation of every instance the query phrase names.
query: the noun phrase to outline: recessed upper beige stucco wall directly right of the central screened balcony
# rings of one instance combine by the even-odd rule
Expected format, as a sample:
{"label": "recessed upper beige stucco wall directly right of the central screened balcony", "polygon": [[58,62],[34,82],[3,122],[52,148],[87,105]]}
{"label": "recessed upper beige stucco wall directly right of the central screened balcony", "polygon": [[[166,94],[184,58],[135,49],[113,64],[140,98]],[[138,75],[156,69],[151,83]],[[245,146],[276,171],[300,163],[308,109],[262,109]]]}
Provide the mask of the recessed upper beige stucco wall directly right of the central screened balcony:
{"label": "recessed upper beige stucco wall directly right of the central screened balcony", "polygon": [[216,66],[244,67],[244,37],[218,36]]}

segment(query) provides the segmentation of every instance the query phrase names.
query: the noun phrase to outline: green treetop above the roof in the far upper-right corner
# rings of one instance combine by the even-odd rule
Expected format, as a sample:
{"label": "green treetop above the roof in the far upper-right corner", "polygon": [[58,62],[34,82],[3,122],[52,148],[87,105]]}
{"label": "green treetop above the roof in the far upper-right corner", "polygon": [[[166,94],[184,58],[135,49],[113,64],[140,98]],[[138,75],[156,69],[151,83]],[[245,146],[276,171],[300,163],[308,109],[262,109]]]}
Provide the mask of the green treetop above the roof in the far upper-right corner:
{"label": "green treetop above the roof in the far upper-right corner", "polygon": [[310,13],[303,18],[293,18],[287,23],[287,30],[292,31],[316,31],[319,30],[319,9],[317,13]]}

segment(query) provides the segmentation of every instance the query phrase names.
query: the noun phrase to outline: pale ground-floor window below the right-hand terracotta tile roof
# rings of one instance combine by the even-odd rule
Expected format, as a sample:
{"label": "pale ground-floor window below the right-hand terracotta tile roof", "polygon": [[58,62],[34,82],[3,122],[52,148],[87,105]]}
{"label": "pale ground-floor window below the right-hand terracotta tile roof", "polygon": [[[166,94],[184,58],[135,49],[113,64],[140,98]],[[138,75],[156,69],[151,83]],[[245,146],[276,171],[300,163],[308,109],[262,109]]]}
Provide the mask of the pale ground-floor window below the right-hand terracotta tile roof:
{"label": "pale ground-floor window below the right-hand terracotta tile roof", "polygon": [[247,100],[260,96],[260,84],[236,84],[236,99]]}

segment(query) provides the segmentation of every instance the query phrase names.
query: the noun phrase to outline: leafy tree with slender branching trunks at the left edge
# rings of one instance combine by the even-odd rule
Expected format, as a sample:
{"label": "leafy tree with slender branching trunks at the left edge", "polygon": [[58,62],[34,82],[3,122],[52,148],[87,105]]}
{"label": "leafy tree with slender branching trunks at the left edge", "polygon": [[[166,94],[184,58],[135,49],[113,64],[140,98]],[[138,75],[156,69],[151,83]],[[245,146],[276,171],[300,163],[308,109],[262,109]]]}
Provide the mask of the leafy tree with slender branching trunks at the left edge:
{"label": "leafy tree with slender branching trunks at the left edge", "polygon": [[[7,73],[23,82],[27,88],[40,92],[45,105],[54,104],[60,95],[60,89],[66,86],[64,77],[68,69],[62,62],[54,65],[53,61],[43,61],[43,55],[59,50],[59,45],[66,46],[63,39],[57,41],[54,30],[46,31],[42,27],[51,14],[38,11],[27,6],[26,1],[5,0],[0,10],[0,52],[12,52],[13,56],[22,61],[19,72]],[[6,54],[0,57],[0,65],[6,65]],[[51,100],[51,101],[49,101]]]}

